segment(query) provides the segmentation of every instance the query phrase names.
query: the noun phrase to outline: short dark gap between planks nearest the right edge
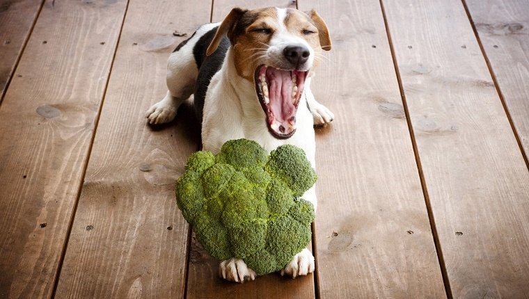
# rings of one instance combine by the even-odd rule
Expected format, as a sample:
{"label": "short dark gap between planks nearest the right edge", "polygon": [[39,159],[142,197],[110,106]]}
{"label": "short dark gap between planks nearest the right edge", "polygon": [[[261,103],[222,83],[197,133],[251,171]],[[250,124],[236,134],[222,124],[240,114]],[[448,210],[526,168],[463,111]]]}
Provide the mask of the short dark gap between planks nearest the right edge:
{"label": "short dark gap between planks nearest the right edge", "polygon": [[505,115],[507,115],[507,120],[509,120],[509,124],[514,134],[514,138],[516,138],[516,143],[518,143],[518,147],[520,148],[523,161],[526,162],[526,167],[529,170],[529,160],[527,157],[527,153],[523,150],[523,144],[521,143],[518,130],[516,130],[516,126],[514,126],[511,113],[509,112],[509,107],[507,106],[507,103],[505,102],[505,97],[503,97],[503,92],[501,91],[500,84],[498,84],[498,79],[496,79],[496,73],[492,69],[489,56],[487,56],[487,52],[485,51],[485,48],[483,47],[483,44],[481,42],[480,34],[477,33],[477,29],[475,28],[475,24],[474,24],[474,20],[472,19],[471,12],[470,10],[468,10],[468,6],[466,6],[466,0],[461,0],[461,2],[463,3],[463,7],[465,8],[465,13],[466,13],[466,16],[468,17],[468,22],[470,22],[472,26],[472,31],[474,31],[475,39],[477,40],[477,45],[480,46],[481,54],[485,60],[485,63],[487,63],[487,68],[489,69],[489,73],[491,74],[492,81],[494,82],[494,87],[496,88],[496,91],[498,92],[498,96],[500,97],[500,101],[503,106],[503,110],[505,111]]}

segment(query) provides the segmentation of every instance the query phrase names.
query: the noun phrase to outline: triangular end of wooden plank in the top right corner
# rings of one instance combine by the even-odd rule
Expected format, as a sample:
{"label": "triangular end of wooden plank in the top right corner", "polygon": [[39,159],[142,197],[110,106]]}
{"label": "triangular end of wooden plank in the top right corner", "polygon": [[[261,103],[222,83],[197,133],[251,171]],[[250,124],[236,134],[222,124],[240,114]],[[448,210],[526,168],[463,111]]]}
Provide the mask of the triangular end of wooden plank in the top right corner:
{"label": "triangular end of wooden plank in the top right corner", "polygon": [[529,1],[469,0],[466,5],[528,163]]}

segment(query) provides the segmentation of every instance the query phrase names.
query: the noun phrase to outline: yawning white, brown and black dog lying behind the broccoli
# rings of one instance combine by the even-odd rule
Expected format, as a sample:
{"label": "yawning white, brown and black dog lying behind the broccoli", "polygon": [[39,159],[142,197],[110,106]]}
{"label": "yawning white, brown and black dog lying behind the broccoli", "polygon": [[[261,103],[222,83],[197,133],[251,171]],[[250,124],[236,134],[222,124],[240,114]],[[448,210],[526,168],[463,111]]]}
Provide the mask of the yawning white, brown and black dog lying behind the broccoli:
{"label": "yawning white, brown and black dog lying behind the broccoli", "polygon": [[[313,10],[233,8],[221,23],[205,24],[180,43],[168,60],[164,99],[146,113],[150,124],[170,122],[194,93],[203,149],[218,153],[231,139],[255,140],[268,152],[284,144],[301,147],[315,168],[314,125],[334,115],[310,90],[322,50],[331,49],[329,29]],[[303,195],[316,209],[315,186]],[[315,269],[303,249],[281,275]],[[226,280],[254,280],[242,259],[219,265]]]}

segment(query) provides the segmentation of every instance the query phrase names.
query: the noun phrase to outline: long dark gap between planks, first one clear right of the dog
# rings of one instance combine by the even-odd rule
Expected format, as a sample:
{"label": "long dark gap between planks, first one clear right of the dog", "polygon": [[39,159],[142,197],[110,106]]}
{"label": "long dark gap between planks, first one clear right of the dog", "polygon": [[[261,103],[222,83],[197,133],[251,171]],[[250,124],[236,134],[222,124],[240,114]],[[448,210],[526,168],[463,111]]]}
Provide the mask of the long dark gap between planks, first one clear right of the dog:
{"label": "long dark gap between planks, first one clear right of the dog", "polygon": [[[462,1],[464,1],[464,0],[462,0]],[[437,234],[437,227],[435,225],[434,213],[432,211],[432,204],[430,203],[430,200],[429,200],[428,188],[426,186],[425,176],[424,176],[424,173],[423,173],[423,166],[420,163],[420,156],[419,156],[419,152],[418,152],[417,142],[415,140],[415,134],[413,132],[413,124],[411,123],[411,118],[410,118],[410,115],[409,115],[408,104],[406,102],[406,95],[404,93],[404,88],[402,86],[402,79],[401,79],[401,76],[400,76],[400,70],[399,70],[399,66],[397,65],[397,58],[395,56],[395,50],[393,49],[393,40],[391,39],[391,34],[390,34],[390,31],[389,31],[388,19],[386,18],[386,10],[384,9],[384,0],[379,0],[379,3],[380,3],[380,10],[381,10],[381,13],[382,13],[382,17],[384,18],[384,26],[386,27],[386,33],[388,35],[388,43],[389,43],[389,48],[390,48],[390,51],[391,51],[391,58],[393,59],[393,66],[395,67],[395,75],[397,76],[397,82],[399,84],[400,97],[402,98],[402,104],[403,104],[402,106],[404,107],[404,115],[406,117],[406,123],[408,124],[409,135],[410,135],[410,138],[411,138],[411,145],[413,146],[413,154],[415,155],[415,160],[416,160],[416,163],[417,163],[417,170],[419,172],[419,177],[420,177],[420,186],[423,188],[423,195],[425,197],[425,203],[426,203],[426,209],[427,209],[429,223],[430,223],[430,229],[432,229],[432,236],[434,238],[434,244],[435,244],[435,249],[436,249],[436,252],[437,252],[437,258],[439,259],[439,266],[441,268],[441,275],[443,276],[443,283],[445,285],[445,292],[446,292],[446,296],[449,299],[452,299],[453,296],[452,296],[452,289],[450,288],[450,280],[448,280],[448,273],[446,271],[445,259],[443,257],[443,250],[441,248],[441,243],[439,241],[439,235]]]}

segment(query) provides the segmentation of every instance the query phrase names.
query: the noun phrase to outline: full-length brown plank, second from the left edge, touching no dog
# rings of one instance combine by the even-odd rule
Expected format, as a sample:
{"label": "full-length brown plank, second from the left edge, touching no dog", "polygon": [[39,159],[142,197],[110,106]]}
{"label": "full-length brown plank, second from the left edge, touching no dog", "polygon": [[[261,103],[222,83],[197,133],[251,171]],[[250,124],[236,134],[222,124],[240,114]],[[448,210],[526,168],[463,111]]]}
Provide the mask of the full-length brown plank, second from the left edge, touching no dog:
{"label": "full-length brown plank, second from the left edge, touching no dog", "polygon": [[47,1],[0,107],[3,298],[52,293],[125,4]]}

